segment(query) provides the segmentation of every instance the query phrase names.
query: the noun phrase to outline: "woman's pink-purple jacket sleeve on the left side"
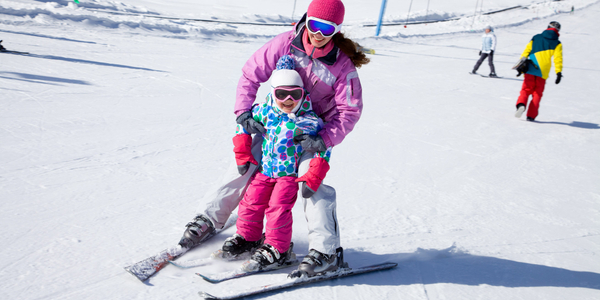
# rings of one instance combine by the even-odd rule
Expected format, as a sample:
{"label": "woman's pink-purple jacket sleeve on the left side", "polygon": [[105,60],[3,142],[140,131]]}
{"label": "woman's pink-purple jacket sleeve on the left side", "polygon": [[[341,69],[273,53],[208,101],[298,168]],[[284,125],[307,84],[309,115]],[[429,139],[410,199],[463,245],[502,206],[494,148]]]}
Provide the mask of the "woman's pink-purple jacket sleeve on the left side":
{"label": "woman's pink-purple jacket sleeve on the left side", "polygon": [[277,60],[290,52],[293,31],[284,32],[258,49],[242,68],[238,82],[234,113],[240,115],[252,108],[260,84],[267,82],[275,70]]}

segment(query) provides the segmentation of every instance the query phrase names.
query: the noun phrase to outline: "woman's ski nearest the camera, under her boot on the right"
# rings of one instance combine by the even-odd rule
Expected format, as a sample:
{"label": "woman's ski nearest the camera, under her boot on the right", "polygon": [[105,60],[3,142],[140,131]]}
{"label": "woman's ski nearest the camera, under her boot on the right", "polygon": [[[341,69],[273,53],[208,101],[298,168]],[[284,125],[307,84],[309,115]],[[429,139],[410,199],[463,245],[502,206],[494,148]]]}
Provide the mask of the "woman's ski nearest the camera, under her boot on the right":
{"label": "woman's ski nearest the camera, under her boot on the right", "polygon": [[266,292],[283,290],[291,287],[296,287],[304,284],[316,283],[320,281],[330,280],[334,278],[341,278],[347,276],[353,276],[363,273],[369,273],[380,270],[387,270],[391,268],[395,268],[398,266],[397,263],[383,263],[378,265],[366,266],[361,268],[341,268],[338,271],[326,273],[324,275],[317,275],[314,277],[300,277],[300,278],[287,278],[279,283],[263,285],[259,287],[254,287],[239,293],[233,293],[225,296],[214,296],[205,292],[199,292],[200,297],[204,299],[216,299],[216,300],[229,300],[229,299],[237,299],[246,296],[252,296],[257,294],[262,294]]}

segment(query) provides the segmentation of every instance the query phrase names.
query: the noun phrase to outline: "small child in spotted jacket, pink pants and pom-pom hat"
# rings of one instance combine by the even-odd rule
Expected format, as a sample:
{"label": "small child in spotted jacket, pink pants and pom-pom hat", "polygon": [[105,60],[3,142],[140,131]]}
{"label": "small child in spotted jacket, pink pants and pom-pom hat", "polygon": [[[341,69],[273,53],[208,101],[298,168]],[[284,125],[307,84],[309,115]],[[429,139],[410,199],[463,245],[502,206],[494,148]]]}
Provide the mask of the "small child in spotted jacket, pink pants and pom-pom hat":
{"label": "small child in spotted jacket, pink pants and pom-pom hat", "polygon": [[[293,256],[292,207],[298,194],[298,183],[306,181],[316,190],[329,170],[331,147],[315,153],[305,176],[297,178],[302,147],[294,138],[316,135],[323,121],[312,111],[310,98],[304,91],[302,78],[294,70],[292,57],[277,62],[271,76],[271,93],[266,102],[252,108],[252,117],[264,126],[262,159],[259,172],[251,179],[240,202],[237,233],[223,245],[224,256],[254,251],[244,263],[246,271],[282,265]],[[233,138],[238,170],[244,174],[249,164],[258,165],[250,151],[252,137],[241,125]],[[263,219],[267,217],[263,244]]]}

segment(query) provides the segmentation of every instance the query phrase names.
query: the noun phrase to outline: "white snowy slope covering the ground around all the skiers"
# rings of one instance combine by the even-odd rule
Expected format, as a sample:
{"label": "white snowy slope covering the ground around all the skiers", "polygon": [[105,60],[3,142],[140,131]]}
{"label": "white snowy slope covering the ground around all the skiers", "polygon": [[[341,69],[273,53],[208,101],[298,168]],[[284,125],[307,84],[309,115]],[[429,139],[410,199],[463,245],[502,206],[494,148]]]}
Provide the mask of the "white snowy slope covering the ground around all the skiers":
{"label": "white snowy slope covering the ground around all the skiers", "polygon": [[[2,298],[199,299],[284,276],[212,285],[167,267],[142,284],[123,266],[175,244],[204,207],[233,160],[241,66],[291,28],[197,19],[289,24],[309,1],[80,2],[0,0],[3,45],[31,53],[0,54]],[[380,4],[344,1],[344,31],[377,54],[327,181],[350,265],[399,267],[265,298],[600,298],[599,1],[490,0],[475,18],[476,1],[388,2],[389,23],[458,18],[374,37]],[[537,122],[516,119],[510,67],[552,20],[563,81],[551,75]],[[502,79],[467,73],[487,24]]]}

